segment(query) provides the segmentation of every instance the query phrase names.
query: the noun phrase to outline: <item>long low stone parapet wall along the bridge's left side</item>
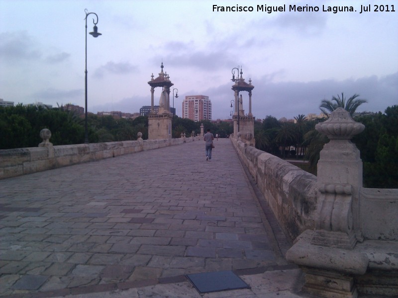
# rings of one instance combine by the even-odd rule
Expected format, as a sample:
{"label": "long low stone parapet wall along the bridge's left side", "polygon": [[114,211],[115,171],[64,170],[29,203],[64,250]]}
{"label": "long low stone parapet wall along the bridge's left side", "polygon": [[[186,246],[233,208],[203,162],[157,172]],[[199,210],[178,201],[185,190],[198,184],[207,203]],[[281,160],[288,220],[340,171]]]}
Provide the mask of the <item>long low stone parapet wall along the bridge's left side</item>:
{"label": "long low stone parapet wall along the bridge's left side", "polygon": [[139,140],[0,150],[0,179],[195,141]]}

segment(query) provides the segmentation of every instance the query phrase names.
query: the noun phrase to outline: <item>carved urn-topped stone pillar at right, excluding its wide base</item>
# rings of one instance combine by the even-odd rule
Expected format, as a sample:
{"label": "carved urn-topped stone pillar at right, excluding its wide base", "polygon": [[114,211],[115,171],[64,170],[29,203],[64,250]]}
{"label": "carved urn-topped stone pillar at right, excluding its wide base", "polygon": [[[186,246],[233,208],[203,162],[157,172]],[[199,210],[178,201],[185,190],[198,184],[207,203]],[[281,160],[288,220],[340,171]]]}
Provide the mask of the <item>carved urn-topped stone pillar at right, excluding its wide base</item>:
{"label": "carved urn-topped stone pillar at right, excluding its wide base", "polygon": [[[318,162],[319,218],[311,243],[315,245],[353,249],[357,239],[355,224],[358,218],[357,199],[362,178],[362,161],[359,150],[351,138],[361,133],[365,126],[355,122],[349,112],[337,108],[330,118],[315,125],[326,135],[325,144]],[[354,206],[353,206],[354,204]]]}

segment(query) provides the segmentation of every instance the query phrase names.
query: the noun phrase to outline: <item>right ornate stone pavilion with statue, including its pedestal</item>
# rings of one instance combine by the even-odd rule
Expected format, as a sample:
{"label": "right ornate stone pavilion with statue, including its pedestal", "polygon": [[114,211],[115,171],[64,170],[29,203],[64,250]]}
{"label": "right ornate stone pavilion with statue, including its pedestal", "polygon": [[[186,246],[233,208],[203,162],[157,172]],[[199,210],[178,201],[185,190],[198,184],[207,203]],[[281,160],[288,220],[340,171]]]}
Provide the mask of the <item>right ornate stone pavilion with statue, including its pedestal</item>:
{"label": "right ornate stone pavilion with statue, including its pedestal", "polygon": [[[254,86],[252,85],[251,79],[249,79],[249,83],[245,82],[245,79],[242,76],[242,68],[240,69],[240,76],[238,74],[238,78],[232,78],[232,81],[235,84],[232,85],[232,90],[235,95],[235,111],[232,116],[233,120],[233,135],[235,139],[241,139],[246,143],[249,143],[251,146],[255,145],[254,140],[254,120],[252,114],[252,90]],[[239,92],[247,91],[249,93],[249,113],[245,115],[245,111],[243,110],[243,98],[242,94],[239,95]]]}

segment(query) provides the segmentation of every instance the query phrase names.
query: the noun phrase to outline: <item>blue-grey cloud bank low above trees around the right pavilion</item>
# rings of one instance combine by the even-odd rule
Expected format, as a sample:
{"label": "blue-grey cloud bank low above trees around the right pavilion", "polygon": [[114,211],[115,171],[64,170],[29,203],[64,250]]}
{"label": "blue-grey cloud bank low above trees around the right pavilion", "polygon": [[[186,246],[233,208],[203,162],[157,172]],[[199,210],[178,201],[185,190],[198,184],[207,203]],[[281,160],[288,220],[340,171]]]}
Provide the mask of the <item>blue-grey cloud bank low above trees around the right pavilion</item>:
{"label": "blue-grey cloud bank low above trees around the right pavilion", "polygon": [[[263,119],[267,115],[292,119],[298,114],[319,114],[322,99],[331,99],[341,92],[347,96],[354,93],[368,103],[360,106],[358,111],[384,112],[388,106],[398,101],[398,73],[383,77],[376,75],[358,79],[320,80],[312,82],[271,82],[272,75],[252,78],[252,112],[256,118]],[[209,96],[212,102],[213,119],[225,119],[229,116],[230,101],[233,99],[231,84],[226,83],[217,88],[201,92]],[[184,96],[184,94],[182,94]],[[247,92],[243,92],[244,109],[248,112]]]}

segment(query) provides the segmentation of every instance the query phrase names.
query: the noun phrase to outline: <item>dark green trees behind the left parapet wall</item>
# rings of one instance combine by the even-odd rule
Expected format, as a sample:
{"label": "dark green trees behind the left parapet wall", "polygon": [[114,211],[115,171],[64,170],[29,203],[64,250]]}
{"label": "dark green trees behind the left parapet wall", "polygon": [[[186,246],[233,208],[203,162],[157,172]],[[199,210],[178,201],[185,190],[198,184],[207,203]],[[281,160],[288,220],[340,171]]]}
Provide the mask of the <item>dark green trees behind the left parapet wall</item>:
{"label": "dark green trees behind the left parapet wall", "polygon": [[[208,120],[194,122],[174,116],[172,120],[173,138],[180,138],[181,133],[191,136],[200,133],[200,124],[204,130],[225,138],[232,133],[230,122],[212,123]],[[61,106],[55,109],[43,107],[25,107],[18,104],[14,107],[0,107],[0,149],[37,147],[41,143],[39,133],[43,128],[51,131],[50,142],[54,146],[84,143],[84,116],[64,110]],[[132,141],[137,133],[148,139],[148,117],[134,119],[113,118],[112,116],[88,115],[90,143]]]}

